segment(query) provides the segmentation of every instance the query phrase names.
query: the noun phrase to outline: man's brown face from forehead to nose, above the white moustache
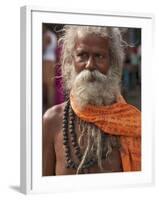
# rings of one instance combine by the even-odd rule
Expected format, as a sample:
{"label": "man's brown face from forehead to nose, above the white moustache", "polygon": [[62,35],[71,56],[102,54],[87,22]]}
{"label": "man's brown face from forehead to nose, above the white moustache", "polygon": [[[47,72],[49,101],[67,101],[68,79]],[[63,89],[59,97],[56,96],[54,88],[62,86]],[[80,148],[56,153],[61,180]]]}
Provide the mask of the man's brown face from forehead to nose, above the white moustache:
{"label": "man's brown face from forehead to nose, above the white moustache", "polygon": [[108,39],[96,35],[78,35],[73,56],[77,73],[87,69],[107,74],[109,69]]}

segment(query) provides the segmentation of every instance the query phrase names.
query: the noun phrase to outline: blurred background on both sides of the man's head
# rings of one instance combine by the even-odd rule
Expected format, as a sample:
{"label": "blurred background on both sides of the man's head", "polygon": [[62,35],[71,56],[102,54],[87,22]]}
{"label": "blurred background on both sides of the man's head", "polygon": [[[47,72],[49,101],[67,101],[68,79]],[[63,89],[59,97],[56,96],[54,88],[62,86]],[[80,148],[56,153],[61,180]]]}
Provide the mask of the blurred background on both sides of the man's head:
{"label": "blurred background on both sides of the man's head", "polygon": [[[60,53],[58,45],[63,24],[43,24],[43,113],[64,101]],[[122,73],[122,95],[126,101],[141,110],[141,29],[120,28],[128,43]]]}

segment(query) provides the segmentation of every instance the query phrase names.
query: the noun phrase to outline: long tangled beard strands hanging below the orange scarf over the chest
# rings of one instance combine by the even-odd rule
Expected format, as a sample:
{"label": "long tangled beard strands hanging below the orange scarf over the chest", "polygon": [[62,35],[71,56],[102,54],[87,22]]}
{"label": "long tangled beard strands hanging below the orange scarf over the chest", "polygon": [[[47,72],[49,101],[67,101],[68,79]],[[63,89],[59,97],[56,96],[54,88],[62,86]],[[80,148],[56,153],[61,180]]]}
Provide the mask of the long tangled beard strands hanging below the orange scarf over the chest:
{"label": "long tangled beard strands hanging below the orange scarf over the chest", "polygon": [[[105,153],[105,158],[111,162],[111,152],[113,148],[120,148],[119,138],[117,136],[107,135],[97,128],[94,124],[80,121],[80,136],[78,143],[80,148],[85,148],[82,160],[77,168],[77,174],[82,169],[86,160],[95,159],[101,172],[104,171],[102,166],[102,155]],[[102,141],[102,134],[105,134],[106,140]],[[81,140],[86,140],[86,146],[81,144]]]}

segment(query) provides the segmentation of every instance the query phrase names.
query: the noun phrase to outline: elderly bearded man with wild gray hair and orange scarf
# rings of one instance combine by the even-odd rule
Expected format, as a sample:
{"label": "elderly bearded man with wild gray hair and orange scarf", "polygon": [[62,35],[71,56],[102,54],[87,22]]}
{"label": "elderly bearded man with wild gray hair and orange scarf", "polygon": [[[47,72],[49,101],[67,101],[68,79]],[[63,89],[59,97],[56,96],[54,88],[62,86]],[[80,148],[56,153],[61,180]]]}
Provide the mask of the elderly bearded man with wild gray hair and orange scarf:
{"label": "elderly bearded man with wild gray hair and orange scarf", "polygon": [[43,116],[43,175],[141,170],[141,114],[120,95],[118,28],[65,26],[66,101]]}

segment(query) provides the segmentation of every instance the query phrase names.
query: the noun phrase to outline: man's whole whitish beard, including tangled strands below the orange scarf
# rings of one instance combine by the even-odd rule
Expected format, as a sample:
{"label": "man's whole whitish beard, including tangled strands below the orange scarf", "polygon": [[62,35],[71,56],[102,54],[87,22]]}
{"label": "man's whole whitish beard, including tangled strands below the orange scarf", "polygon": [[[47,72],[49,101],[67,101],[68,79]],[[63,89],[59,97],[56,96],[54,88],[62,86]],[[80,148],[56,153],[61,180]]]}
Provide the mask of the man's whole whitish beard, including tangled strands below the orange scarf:
{"label": "man's whole whitish beard, including tangled strands below the orange scarf", "polygon": [[[112,104],[116,99],[116,95],[120,92],[119,79],[113,76],[111,68],[107,75],[100,73],[98,70],[83,70],[78,75],[74,72],[71,81],[73,82],[71,92],[76,97],[81,108],[87,104],[97,106]],[[82,169],[85,161],[91,158],[97,160],[100,170],[103,171],[102,151],[105,148],[106,158],[109,158],[112,149],[119,145],[118,138],[107,135],[103,146],[102,131],[94,124],[84,121],[80,121],[80,133],[79,145],[82,148],[80,141],[84,138],[86,140],[86,147],[78,166],[77,174]]]}

